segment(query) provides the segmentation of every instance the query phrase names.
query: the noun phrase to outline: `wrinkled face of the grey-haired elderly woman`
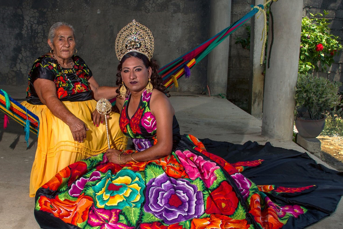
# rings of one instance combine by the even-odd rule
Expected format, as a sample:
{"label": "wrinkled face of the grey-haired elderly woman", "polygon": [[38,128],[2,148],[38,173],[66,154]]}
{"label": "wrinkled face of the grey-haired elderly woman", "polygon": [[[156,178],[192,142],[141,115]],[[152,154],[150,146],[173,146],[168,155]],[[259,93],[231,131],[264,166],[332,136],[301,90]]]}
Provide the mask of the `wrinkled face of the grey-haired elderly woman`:
{"label": "wrinkled face of the grey-haired elderly woman", "polygon": [[62,25],[57,28],[54,41],[49,41],[51,49],[54,49],[55,57],[69,59],[73,55],[76,43],[74,33],[68,26]]}

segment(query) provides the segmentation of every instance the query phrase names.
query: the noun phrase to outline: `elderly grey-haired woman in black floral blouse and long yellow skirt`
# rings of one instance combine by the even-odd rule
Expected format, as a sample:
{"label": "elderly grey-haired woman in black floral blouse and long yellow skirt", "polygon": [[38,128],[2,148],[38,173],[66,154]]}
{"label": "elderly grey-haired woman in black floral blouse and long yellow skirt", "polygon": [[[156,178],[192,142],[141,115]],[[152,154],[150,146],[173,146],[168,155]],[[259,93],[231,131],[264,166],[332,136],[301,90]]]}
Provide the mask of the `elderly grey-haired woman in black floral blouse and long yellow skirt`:
{"label": "elderly grey-haired woman in black floral blouse and long yellow skirt", "polygon": [[[31,171],[30,196],[58,171],[108,148],[106,126],[94,116],[96,100],[114,98],[114,87],[99,87],[83,59],[75,56],[74,28],[64,22],[51,26],[50,52],[40,56],[28,74],[27,97],[22,104],[39,117],[37,151]],[[109,119],[110,146],[125,149],[119,114]]]}

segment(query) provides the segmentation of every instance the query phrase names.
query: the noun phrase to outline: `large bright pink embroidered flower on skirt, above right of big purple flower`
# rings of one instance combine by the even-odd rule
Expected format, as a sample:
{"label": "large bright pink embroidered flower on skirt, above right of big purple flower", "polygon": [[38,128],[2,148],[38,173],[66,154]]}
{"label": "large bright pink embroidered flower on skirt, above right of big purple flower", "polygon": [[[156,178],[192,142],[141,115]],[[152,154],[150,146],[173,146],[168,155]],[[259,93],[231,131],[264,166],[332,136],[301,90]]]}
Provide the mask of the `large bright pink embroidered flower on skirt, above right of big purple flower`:
{"label": "large bright pink embroidered flower on skirt, above right of big purple flower", "polygon": [[220,167],[216,163],[206,161],[203,157],[197,156],[189,150],[185,150],[184,152],[177,150],[175,153],[179,157],[181,164],[185,167],[190,179],[195,180],[201,177],[206,187],[211,187],[213,182],[217,180],[214,171]]}

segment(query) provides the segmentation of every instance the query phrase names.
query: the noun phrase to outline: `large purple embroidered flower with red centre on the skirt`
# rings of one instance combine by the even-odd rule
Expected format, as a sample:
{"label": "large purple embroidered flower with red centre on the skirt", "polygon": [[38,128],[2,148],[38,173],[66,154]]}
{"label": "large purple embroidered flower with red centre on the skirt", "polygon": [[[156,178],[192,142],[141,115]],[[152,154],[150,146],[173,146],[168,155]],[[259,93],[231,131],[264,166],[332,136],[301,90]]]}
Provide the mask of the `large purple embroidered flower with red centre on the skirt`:
{"label": "large purple embroidered flower with red centre on the skirt", "polygon": [[144,211],[166,224],[198,218],[204,213],[202,192],[185,179],[163,173],[147,183]]}

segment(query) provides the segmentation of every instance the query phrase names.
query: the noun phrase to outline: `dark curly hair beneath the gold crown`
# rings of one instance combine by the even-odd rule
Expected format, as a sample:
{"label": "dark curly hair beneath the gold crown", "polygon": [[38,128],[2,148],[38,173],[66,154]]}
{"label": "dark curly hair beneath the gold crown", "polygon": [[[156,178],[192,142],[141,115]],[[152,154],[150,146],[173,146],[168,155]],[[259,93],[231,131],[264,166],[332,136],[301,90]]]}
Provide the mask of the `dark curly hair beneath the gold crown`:
{"label": "dark curly hair beneath the gold crown", "polygon": [[[116,81],[116,84],[119,86],[118,89],[116,90],[116,92],[118,94],[120,94],[119,90],[120,90],[120,87],[123,85],[123,83],[122,83],[123,80],[122,80],[122,77],[121,77],[122,64],[123,64],[123,62],[126,59],[128,59],[130,57],[136,57],[136,58],[142,60],[143,63],[144,63],[144,66],[146,68],[151,67],[152,73],[151,73],[150,79],[151,79],[151,83],[152,83],[154,88],[156,88],[157,90],[163,92],[164,94],[167,94],[169,92],[167,90],[167,88],[163,85],[163,80],[162,80],[161,76],[158,75],[158,65],[157,65],[156,60],[152,59],[151,61],[149,61],[149,59],[145,55],[143,55],[143,54],[140,54],[140,53],[137,53],[137,52],[130,52],[130,53],[124,55],[123,58],[121,58],[121,61],[118,64],[117,81]],[[118,95],[118,96],[120,96],[120,95]],[[170,95],[167,94],[167,96],[169,97]]]}

